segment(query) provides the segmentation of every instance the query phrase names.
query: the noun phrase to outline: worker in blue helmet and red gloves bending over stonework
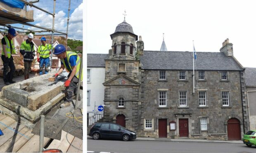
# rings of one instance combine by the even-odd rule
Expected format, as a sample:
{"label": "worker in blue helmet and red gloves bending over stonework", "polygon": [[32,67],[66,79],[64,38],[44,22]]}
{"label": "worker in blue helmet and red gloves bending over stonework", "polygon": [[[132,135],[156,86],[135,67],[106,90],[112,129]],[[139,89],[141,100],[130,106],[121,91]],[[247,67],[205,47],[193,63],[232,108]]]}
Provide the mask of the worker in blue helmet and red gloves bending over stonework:
{"label": "worker in blue helmet and red gloves bending over stonework", "polygon": [[62,44],[55,46],[53,53],[61,61],[61,67],[55,74],[55,77],[62,73],[64,68],[69,71],[68,79],[64,83],[64,86],[68,88],[66,92],[66,100],[63,104],[60,105],[60,107],[65,108],[70,105],[70,102],[72,102],[73,94],[76,94],[78,79],[83,79],[83,73],[82,76],[79,76],[81,58],[75,52],[66,51],[66,47]]}

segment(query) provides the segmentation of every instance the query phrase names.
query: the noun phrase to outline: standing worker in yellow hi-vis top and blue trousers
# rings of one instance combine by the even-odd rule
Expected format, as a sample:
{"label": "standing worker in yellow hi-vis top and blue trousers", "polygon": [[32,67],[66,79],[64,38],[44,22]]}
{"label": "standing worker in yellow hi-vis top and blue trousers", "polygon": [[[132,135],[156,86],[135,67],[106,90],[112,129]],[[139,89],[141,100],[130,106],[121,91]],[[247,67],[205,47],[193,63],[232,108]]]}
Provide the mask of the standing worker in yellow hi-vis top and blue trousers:
{"label": "standing worker in yellow hi-vis top and blue trousers", "polygon": [[[37,51],[37,61],[40,63],[39,65],[39,75],[43,75],[43,65],[45,65],[45,74],[49,72],[48,67],[50,66],[50,54],[52,45],[46,44],[45,37],[41,38],[42,44],[38,47]],[[40,58],[39,58],[40,55]]]}

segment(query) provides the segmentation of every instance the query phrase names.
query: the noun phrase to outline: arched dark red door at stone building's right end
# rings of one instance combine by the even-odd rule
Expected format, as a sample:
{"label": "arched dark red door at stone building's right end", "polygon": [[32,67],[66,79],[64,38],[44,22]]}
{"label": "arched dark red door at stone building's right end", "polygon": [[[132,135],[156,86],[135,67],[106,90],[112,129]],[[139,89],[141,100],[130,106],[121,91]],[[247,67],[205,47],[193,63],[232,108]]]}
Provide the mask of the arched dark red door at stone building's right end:
{"label": "arched dark red door at stone building's right end", "polygon": [[241,140],[240,121],[237,118],[228,120],[228,140]]}

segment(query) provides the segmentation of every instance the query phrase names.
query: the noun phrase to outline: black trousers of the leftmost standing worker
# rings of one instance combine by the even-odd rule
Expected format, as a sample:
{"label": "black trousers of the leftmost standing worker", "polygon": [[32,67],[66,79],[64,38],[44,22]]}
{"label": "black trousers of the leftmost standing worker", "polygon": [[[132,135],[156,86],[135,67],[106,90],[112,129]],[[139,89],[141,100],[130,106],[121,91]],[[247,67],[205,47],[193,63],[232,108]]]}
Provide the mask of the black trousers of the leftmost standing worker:
{"label": "black trousers of the leftmost standing worker", "polygon": [[[9,58],[9,61],[7,61],[7,58],[4,55],[2,55],[1,58],[2,58],[3,65],[4,65],[4,72],[3,72],[4,81],[5,82],[12,81],[13,74],[15,72],[15,65],[13,62],[13,58],[11,56]],[[10,72],[8,72],[9,67],[10,67]]]}

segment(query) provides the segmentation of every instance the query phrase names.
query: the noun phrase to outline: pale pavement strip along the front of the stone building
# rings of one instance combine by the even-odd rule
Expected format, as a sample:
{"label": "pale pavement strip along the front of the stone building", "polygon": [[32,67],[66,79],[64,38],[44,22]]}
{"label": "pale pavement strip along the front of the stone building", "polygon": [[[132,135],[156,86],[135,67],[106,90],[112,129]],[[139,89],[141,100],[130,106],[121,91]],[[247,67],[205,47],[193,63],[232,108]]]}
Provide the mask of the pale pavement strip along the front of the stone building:
{"label": "pale pavement strip along the front of the stone building", "polygon": [[[87,139],[91,138],[90,136],[87,136]],[[229,140],[229,141],[223,141],[223,140],[206,140],[206,139],[189,139],[189,138],[183,138],[183,139],[170,139],[170,138],[148,138],[148,137],[137,137],[135,139],[137,140],[143,140],[143,141],[180,141],[180,142],[220,142],[220,143],[234,143],[234,144],[243,144],[242,140]]]}

